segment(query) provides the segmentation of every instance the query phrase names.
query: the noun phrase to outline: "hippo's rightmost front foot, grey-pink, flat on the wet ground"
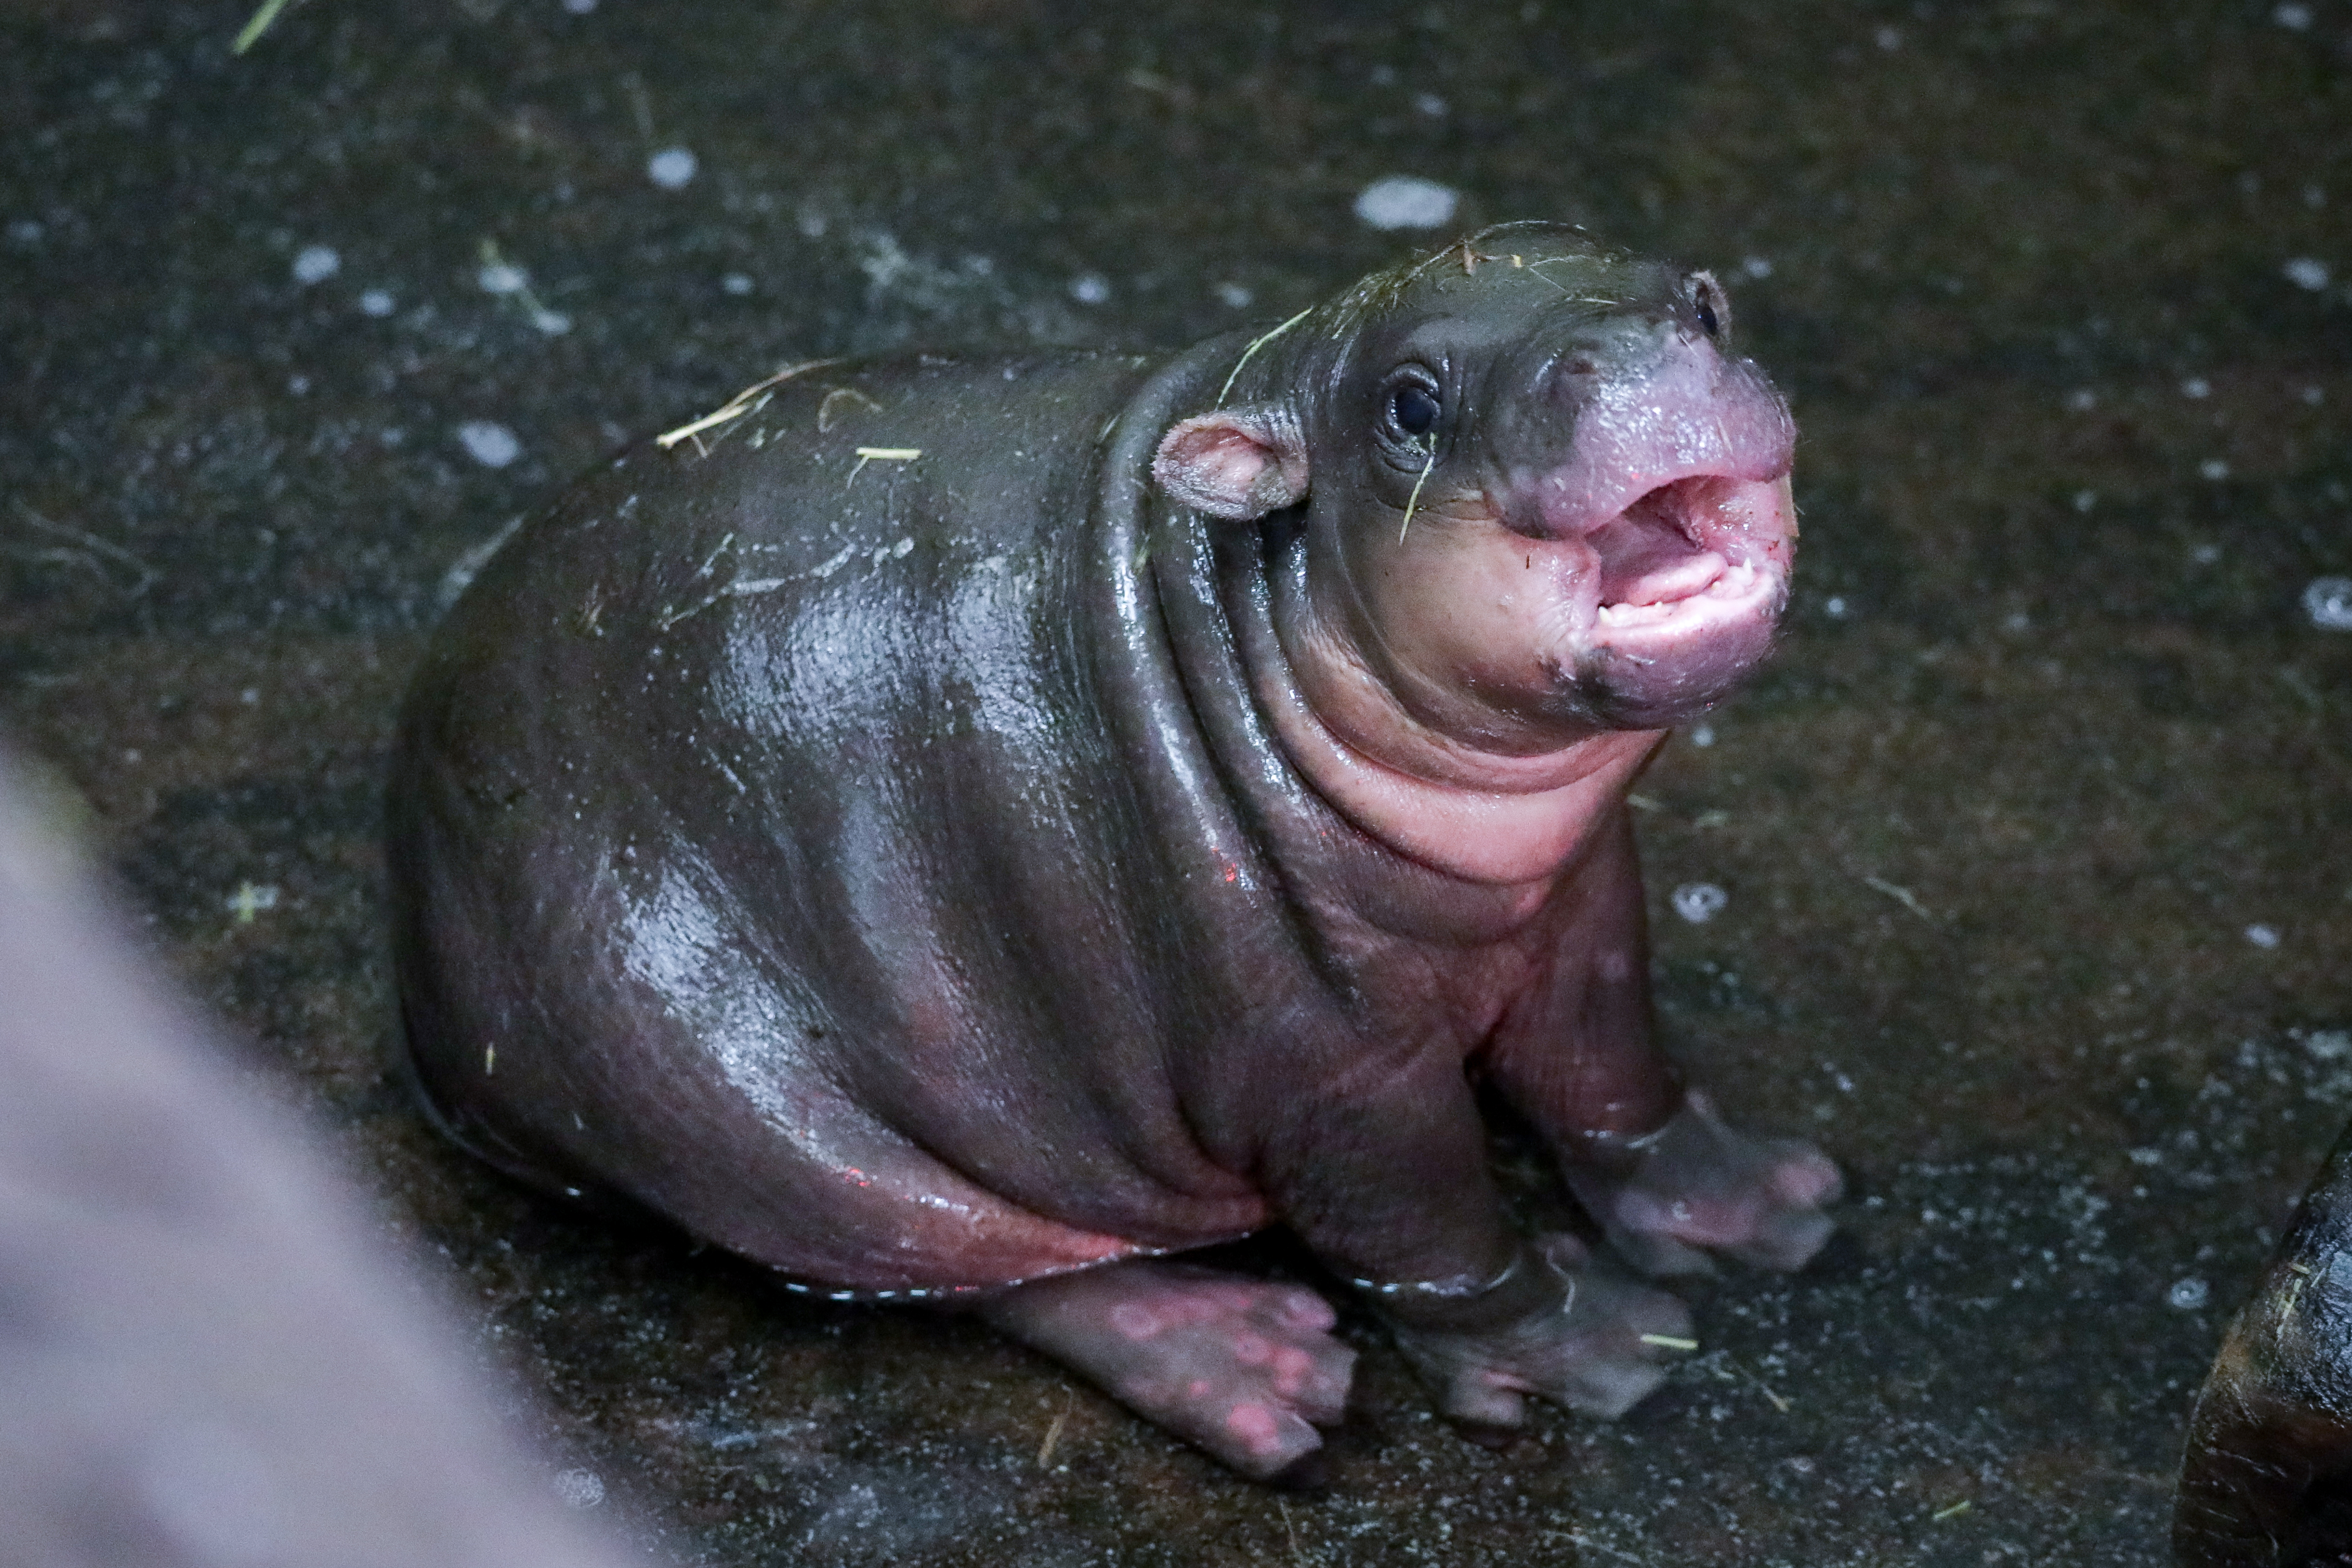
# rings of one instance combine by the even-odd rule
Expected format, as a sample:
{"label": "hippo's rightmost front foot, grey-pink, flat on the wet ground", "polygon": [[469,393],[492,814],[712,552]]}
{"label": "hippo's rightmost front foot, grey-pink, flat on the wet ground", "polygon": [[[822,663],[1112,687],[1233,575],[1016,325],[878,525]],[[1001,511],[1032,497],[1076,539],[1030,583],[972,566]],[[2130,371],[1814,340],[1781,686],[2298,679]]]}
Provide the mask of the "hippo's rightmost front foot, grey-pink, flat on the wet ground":
{"label": "hippo's rightmost front foot, grey-pink, flat on the wet ground", "polygon": [[1759,1269],[1799,1269],[1837,1225],[1820,1213],[1844,1190],[1828,1154],[1799,1138],[1752,1138],[1708,1095],[1642,1140],[1625,1173],[1569,1166],[1569,1187],[1609,1244],[1644,1274],[1708,1274],[1700,1248]]}

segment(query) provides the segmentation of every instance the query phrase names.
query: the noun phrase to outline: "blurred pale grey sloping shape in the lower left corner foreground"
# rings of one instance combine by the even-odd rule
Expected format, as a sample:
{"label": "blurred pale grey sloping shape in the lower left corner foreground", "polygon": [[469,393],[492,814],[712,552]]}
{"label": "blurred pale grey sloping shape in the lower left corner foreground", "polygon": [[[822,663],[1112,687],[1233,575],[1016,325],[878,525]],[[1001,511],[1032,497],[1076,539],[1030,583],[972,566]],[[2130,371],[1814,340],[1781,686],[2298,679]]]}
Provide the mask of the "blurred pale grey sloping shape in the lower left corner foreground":
{"label": "blurred pale grey sloping shape in the lower left corner foreground", "polygon": [[358,1197],[0,762],[0,1563],[590,1568]]}

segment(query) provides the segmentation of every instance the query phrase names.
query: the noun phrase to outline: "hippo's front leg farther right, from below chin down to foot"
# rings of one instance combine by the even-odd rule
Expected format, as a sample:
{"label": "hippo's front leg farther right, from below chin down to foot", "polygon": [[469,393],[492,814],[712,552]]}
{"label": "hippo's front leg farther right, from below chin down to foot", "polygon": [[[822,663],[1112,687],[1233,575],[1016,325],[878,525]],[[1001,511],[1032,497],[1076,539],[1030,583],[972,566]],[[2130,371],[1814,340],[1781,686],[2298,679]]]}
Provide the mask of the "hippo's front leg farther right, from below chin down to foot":
{"label": "hippo's front leg farther right, from below chin down to foot", "polygon": [[[1804,1267],[1835,1225],[1837,1166],[1797,1138],[1729,1126],[1684,1095],[1651,1039],[1649,933],[1632,820],[1618,806],[1564,889],[1573,922],[1550,985],[1503,1025],[1494,1074],[1559,1150],[1569,1187],[1644,1274],[1705,1274],[1708,1251]],[[1703,1251],[1705,1248],[1705,1251]]]}

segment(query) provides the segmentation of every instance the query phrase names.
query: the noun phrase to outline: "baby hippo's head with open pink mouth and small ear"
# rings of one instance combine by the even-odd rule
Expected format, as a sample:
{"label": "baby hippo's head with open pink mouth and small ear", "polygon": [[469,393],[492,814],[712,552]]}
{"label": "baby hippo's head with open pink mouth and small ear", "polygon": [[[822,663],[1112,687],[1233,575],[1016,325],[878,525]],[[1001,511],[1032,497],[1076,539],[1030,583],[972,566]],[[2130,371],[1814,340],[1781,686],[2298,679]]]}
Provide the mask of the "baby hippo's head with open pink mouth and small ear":
{"label": "baby hippo's head with open pink mouth and small ear", "polygon": [[1275,611],[1334,731],[1534,759],[1689,719],[1764,658],[1792,447],[1708,273],[1508,223],[1263,341],[1152,473],[1216,517],[1303,503]]}

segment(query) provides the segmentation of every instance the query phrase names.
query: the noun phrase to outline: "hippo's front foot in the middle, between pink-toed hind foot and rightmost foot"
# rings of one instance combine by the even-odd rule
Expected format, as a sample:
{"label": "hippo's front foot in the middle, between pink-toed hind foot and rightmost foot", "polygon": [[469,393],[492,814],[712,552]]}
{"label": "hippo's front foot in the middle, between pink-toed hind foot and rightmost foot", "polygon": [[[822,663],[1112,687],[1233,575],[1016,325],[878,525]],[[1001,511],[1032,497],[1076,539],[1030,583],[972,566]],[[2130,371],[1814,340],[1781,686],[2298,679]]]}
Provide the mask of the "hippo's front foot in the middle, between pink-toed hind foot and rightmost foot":
{"label": "hippo's front foot in the middle, between pink-toed hind foot and rightmost foot", "polygon": [[1559,1307],[1491,1333],[1395,1324],[1404,1359],[1454,1420],[1519,1427],[1526,1394],[1613,1420],[1665,1382],[1663,1352],[1689,1349],[1691,1309],[1677,1298],[1588,1267],[1573,1237],[1541,1248],[1564,1284]]}

